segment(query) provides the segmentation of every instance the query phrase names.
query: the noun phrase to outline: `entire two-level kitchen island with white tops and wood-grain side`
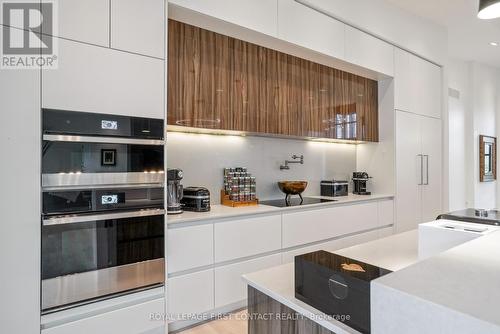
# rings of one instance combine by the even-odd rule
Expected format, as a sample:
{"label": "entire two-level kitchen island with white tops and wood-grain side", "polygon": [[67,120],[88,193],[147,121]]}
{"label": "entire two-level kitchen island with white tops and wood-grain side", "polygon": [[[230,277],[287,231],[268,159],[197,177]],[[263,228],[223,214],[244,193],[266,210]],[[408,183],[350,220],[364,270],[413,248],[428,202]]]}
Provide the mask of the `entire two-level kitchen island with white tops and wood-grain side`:
{"label": "entire two-level kitchen island with white tops and wood-grain side", "polygon": [[[371,333],[500,333],[500,231],[422,261],[417,239],[414,230],[335,251],[393,271],[371,282]],[[295,298],[293,264],[243,279],[250,314],[294,316],[291,323],[270,322],[268,333],[279,333],[280,326],[296,326],[296,333],[359,333]],[[249,333],[262,325],[251,319]]]}

